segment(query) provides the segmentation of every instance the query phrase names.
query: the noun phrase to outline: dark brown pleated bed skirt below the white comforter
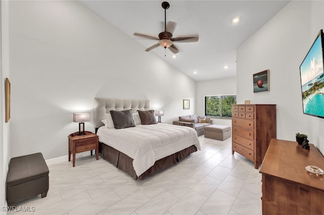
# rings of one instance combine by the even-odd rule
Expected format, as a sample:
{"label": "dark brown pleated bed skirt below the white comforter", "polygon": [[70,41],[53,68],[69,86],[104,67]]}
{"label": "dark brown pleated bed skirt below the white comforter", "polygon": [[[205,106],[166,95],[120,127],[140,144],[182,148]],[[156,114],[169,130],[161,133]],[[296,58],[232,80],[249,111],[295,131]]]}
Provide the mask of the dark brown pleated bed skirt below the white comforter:
{"label": "dark brown pleated bed skirt below the white comforter", "polygon": [[123,169],[126,173],[129,173],[135,180],[137,180],[137,178],[143,180],[146,176],[153,175],[159,170],[165,169],[177,162],[180,162],[183,158],[196,151],[197,148],[192,145],[172,155],[161,158],[155,161],[154,165],[147,169],[142,175],[137,177],[133,167],[132,158],[130,158],[123,152],[119,152],[118,150],[99,142],[99,153],[102,155],[102,157],[112,162],[116,167]]}

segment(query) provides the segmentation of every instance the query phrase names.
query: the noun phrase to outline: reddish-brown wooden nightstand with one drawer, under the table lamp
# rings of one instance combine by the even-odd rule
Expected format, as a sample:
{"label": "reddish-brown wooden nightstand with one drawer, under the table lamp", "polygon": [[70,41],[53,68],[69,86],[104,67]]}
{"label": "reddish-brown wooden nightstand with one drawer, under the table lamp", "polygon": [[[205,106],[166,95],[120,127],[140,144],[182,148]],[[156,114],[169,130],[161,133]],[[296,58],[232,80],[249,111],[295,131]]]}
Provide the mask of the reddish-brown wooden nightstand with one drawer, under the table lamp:
{"label": "reddish-brown wooden nightstand with one drawer, under the table lamp", "polygon": [[98,156],[98,142],[99,138],[92,132],[85,132],[86,135],[68,136],[69,138],[69,161],[71,161],[71,153],[73,154],[73,167],[75,166],[75,154],[91,150],[96,150],[97,160]]}

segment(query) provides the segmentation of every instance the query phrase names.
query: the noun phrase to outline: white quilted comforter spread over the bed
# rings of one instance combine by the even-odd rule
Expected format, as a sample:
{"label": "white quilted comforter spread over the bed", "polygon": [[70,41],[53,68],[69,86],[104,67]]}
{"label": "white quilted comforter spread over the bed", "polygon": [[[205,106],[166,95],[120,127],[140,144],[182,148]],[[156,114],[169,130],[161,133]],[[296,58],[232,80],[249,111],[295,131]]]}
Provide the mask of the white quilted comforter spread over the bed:
{"label": "white quilted comforter spread over the bed", "polygon": [[99,141],[133,158],[137,176],[158,159],[195,145],[200,150],[196,131],[187,126],[165,123],[138,124],[123,129],[99,128]]}

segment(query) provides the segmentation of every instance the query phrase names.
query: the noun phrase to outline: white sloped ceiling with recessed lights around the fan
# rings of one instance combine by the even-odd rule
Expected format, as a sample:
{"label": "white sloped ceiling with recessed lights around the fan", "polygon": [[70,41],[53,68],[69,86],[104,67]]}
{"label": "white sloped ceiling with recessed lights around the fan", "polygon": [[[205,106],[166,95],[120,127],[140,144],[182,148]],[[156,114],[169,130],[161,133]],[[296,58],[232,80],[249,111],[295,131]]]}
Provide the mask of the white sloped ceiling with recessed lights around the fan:
{"label": "white sloped ceiling with recessed lights around the fan", "polygon": [[[80,1],[96,14],[132,37],[145,49],[156,40],[133,36],[134,32],[157,37],[164,31],[164,1]],[[167,22],[177,23],[173,37],[199,35],[198,42],[175,42],[173,53],[157,47],[150,51],[195,81],[236,76],[236,49],[289,1],[168,1]],[[232,24],[239,16],[240,22]],[[107,38],[108,39],[108,38]],[[266,42],[266,40],[264,41]],[[148,55],[151,53],[147,53]],[[224,69],[227,65],[228,68]]]}

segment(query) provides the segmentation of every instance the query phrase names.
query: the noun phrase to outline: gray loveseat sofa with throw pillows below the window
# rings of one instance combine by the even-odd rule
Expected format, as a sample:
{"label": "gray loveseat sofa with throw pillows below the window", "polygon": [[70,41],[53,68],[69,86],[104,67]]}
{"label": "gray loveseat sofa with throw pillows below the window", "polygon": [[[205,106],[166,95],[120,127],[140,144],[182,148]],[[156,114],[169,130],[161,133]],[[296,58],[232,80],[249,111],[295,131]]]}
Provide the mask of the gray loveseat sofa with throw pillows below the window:
{"label": "gray loveseat sofa with throw pillows below the window", "polygon": [[179,116],[179,120],[173,121],[175,125],[184,125],[194,128],[197,131],[197,135],[204,135],[204,127],[213,124],[211,117],[198,116],[198,115],[186,115]]}

